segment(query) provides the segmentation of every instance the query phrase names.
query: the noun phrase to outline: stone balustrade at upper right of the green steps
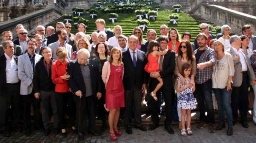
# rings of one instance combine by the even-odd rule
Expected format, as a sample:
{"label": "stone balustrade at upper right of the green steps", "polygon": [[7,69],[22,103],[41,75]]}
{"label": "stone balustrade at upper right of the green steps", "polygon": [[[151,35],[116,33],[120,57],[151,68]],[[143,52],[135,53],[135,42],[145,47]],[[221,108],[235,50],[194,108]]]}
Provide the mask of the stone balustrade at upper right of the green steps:
{"label": "stone balustrade at upper right of the green steps", "polygon": [[199,5],[191,8],[191,13],[199,15],[207,20],[210,20],[217,25],[228,24],[232,32],[241,35],[242,26],[250,24],[253,27],[253,33],[256,34],[256,17],[231,10],[229,8],[200,3]]}

